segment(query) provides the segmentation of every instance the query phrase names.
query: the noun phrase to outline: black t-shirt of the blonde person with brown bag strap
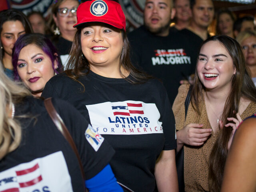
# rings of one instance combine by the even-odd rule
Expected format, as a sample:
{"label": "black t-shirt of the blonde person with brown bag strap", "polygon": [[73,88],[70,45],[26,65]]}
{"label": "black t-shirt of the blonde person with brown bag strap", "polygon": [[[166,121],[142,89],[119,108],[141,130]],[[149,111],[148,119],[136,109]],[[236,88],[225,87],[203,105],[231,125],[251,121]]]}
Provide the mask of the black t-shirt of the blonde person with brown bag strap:
{"label": "black t-shirt of the blonde person with brown bag strap", "polygon": [[[92,178],[108,164],[114,150],[102,136],[96,136],[73,106],[62,100],[52,99],[52,103],[76,144],[86,180]],[[77,157],[52,122],[44,102],[27,97],[15,105],[15,116],[20,115],[28,118],[17,118],[22,127],[21,143],[0,160],[0,191],[83,191]]]}

